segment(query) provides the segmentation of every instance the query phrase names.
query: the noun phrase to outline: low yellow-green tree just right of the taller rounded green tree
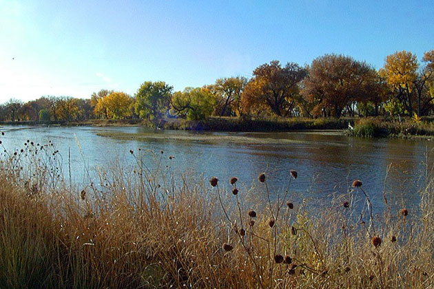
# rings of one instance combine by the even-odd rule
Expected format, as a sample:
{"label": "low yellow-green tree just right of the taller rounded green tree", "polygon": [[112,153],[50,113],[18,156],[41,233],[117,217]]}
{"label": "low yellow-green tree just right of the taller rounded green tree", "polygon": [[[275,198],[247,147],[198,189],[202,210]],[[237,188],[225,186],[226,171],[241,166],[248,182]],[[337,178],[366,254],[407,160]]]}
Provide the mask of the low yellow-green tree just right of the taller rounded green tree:
{"label": "low yellow-green tree just right of the taller rounded green tree", "polygon": [[189,120],[203,120],[211,115],[216,99],[207,87],[187,87],[172,96],[172,111]]}

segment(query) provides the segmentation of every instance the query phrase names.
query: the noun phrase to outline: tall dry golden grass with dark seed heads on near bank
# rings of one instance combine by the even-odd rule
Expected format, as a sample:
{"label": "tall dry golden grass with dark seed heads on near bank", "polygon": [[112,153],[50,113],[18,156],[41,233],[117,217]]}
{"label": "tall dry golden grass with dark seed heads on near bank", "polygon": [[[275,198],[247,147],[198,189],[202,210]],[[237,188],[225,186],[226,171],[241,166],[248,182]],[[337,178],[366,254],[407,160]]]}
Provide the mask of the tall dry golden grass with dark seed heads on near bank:
{"label": "tall dry golden grass with dark seed heads on near bank", "polygon": [[0,288],[433,286],[431,176],[408,214],[384,195],[374,215],[358,182],[311,211],[292,199],[295,171],[271,200],[272,176],[251,189],[204,183],[141,150],[105,166],[98,184],[71,184],[51,142],[26,143],[0,162]]}

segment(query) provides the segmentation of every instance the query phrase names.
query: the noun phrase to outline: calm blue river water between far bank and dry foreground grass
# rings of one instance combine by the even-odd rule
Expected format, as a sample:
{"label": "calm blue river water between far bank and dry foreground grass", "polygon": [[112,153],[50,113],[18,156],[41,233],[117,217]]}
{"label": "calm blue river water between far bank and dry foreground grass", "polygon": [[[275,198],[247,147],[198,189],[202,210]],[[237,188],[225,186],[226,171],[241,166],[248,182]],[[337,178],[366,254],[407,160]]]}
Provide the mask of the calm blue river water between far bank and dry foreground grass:
{"label": "calm blue river water between far bank and dry foreground grass", "polygon": [[[292,193],[318,200],[332,193],[345,193],[354,179],[360,179],[373,203],[380,207],[383,188],[392,202],[406,202],[406,206],[417,202],[417,191],[424,184],[426,153],[434,148],[433,142],[425,140],[349,138],[340,132],[320,131],[193,133],[143,127],[1,130],[6,132],[2,140],[7,149],[23,147],[28,138],[36,142],[52,140],[63,156],[68,156],[71,149],[75,182],[84,180],[85,167],[107,166],[116,158],[131,163],[130,149],[141,148],[165,151],[164,156],[175,156],[175,169],[205,180],[211,176],[220,180],[237,176],[245,186],[251,186],[258,173],[265,171],[272,193],[285,186],[289,171],[295,169],[299,178],[291,185]],[[389,164],[391,169],[384,182]]]}

